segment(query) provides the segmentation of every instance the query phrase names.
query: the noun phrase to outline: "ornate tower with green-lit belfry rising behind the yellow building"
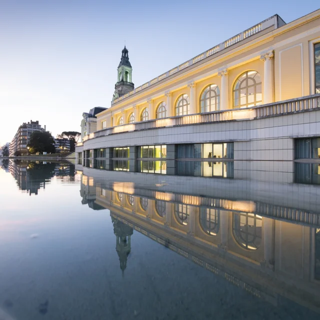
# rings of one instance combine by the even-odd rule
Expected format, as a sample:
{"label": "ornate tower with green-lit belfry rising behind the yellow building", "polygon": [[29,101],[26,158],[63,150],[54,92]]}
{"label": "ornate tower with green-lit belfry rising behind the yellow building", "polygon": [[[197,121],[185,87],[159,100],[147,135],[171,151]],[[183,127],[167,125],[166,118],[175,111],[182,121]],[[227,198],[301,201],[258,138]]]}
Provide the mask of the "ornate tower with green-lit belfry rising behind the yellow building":
{"label": "ornate tower with green-lit belfry rising behind the yellow building", "polygon": [[134,84],[132,83],[132,67],[129,62],[128,52],[128,49],[124,45],[121,60],[118,65],[118,78],[114,86],[115,90],[112,101],[118,98],[119,96],[128,93],[134,89]]}

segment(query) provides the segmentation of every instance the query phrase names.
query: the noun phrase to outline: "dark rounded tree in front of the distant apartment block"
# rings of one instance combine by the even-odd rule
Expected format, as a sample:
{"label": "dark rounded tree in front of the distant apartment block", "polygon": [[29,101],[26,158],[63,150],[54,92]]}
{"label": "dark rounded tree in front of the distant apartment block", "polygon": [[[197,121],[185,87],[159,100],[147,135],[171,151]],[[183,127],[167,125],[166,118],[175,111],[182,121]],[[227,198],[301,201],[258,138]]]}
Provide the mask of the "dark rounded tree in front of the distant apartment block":
{"label": "dark rounded tree in front of the distant apartment block", "polygon": [[34,154],[36,152],[54,153],[54,139],[49,131],[34,131],[30,135],[29,152]]}

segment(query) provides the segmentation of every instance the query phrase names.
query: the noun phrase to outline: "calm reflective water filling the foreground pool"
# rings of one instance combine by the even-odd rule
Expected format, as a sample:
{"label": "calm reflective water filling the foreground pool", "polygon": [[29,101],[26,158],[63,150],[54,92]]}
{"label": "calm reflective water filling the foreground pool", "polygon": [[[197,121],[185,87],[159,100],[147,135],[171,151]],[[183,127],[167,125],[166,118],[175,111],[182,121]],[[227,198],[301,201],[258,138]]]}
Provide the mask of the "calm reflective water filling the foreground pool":
{"label": "calm reflective water filling the foreground pool", "polygon": [[299,168],[3,160],[0,319],[319,319],[320,170]]}

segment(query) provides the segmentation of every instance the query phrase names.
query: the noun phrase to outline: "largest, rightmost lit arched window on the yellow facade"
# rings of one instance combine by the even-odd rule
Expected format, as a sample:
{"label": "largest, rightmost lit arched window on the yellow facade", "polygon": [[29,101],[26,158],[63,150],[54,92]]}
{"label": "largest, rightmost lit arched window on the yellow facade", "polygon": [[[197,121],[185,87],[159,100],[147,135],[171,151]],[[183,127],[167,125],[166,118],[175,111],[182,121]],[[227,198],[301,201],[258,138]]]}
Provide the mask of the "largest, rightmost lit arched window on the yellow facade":
{"label": "largest, rightmost lit arched window on the yellow facade", "polygon": [[261,77],[256,71],[242,73],[233,85],[233,107],[248,107],[262,103]]}

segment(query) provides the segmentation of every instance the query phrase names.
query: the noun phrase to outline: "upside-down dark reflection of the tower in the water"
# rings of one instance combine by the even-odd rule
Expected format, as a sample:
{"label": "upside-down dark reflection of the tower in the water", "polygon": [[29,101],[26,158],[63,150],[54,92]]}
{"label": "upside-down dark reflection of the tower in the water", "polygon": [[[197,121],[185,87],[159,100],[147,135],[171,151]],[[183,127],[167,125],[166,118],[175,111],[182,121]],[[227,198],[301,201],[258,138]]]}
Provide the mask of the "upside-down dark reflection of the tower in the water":
{"label": "upside-down dark reflection of the tower in the water", "polygon": [[111,220],[113,223],[113,232],[116,236],[115,249],[119,256],[120,269],[123,275],[126,268],[126,260],[131,250],[131,235],[133,234],[133,229],[112,216]]}

